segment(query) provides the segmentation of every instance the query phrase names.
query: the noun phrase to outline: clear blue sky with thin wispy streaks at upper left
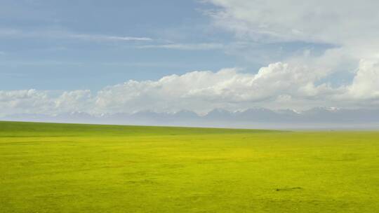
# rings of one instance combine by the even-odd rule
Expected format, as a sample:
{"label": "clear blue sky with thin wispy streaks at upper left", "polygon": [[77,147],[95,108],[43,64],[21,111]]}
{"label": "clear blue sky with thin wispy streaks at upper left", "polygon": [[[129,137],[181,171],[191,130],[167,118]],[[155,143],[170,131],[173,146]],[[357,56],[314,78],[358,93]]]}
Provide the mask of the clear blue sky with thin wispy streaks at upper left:
{"label": "clear blue sky with thin wispy streaks at upper left", "polygon": [[203,14],[209,8],[197,1],[0,1],[1,89],[98,90],[128,79],[235,67],[238,60],[220,49],[140,48],[227,43],[230,36],[209,26]]}

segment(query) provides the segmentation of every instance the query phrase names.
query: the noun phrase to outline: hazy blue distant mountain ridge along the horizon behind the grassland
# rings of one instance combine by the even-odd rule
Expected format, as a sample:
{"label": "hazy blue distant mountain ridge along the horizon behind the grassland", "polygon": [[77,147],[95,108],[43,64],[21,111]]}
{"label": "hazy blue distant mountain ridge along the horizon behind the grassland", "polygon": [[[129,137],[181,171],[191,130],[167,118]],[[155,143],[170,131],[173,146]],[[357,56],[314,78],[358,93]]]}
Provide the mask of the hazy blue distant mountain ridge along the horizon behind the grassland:
{"label": "hazy blue distant mountain ridge along the horizon behind the grassland", "polygon": [[227,111],[213,109],[200,116],[193,111],[159,113],[139,111],[134,114],[117,113],[92,115],[85,112],[72,112],[58,115],[13,114],[0,118],[4,121],[36,121],[56,123],[99,123],[122,125],[187,125],[236,128],[333,128],[367,127],[379,125],[379,109],[335,109],[318,107],[306,111],[291,109],[270,110],[265,108]]}

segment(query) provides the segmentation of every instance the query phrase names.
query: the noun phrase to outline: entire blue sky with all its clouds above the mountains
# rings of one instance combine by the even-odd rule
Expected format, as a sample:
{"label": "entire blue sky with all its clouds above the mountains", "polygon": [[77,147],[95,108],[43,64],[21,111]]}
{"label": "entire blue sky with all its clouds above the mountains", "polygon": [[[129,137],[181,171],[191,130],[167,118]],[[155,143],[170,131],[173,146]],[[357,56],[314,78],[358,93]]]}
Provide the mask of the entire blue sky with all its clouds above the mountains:
{"label": "entire blue sky with all its clouds above the mountains", "polygon": [[378,7],[0,0],[0,116],[377,109]]}

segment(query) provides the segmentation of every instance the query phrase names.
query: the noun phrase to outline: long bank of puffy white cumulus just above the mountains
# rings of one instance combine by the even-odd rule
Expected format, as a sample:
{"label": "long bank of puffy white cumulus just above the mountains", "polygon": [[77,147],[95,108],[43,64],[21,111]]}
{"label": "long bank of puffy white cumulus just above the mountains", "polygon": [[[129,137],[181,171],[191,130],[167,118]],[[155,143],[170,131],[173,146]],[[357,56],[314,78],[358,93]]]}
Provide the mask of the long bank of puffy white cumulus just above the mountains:
{"label": "long bank of puffy white cumulus just above the mountains", "polygon": [[311,67],[277,62],[256,74],[239,69],[192,71],[157,81],[126,81],[98,92],[73,90],[0,91],[1,114],[84,111],[91,114],[150,111],[205,113],[215,108],[378,107],[379,63],[361,61],[352,83],[321,82],[328,74]]}

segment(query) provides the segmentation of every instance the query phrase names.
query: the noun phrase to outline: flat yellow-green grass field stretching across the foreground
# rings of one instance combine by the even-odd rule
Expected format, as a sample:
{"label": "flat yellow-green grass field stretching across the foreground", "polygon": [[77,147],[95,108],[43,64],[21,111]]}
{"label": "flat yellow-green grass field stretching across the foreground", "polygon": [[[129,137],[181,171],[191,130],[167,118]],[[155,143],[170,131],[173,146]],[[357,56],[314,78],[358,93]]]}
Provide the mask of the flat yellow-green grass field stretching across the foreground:
{"label": "flat yellow-green grass field stretching across the foreground", "polygon": [[379,132],[0,122],[0,212],[379,212]]}

